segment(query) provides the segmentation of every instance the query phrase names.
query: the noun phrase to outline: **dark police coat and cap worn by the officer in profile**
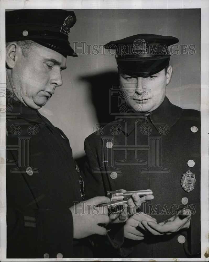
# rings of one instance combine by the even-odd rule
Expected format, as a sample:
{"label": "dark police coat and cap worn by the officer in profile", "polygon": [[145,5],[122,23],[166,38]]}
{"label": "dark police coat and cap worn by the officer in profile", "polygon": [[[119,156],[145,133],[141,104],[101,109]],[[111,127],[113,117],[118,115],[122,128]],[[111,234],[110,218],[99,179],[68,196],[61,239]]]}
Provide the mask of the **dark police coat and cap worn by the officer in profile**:
{"label": "dark police coat and cap worn by the officer in profile", "polygon": [[[34,40],[65,57],[74,12],[6,12],[6,42]],[[19,92],[20,90],[16,90]],[[92,257],[89,238],[73,240],[80,171],[65,134],[7,91],[7,258]]]}

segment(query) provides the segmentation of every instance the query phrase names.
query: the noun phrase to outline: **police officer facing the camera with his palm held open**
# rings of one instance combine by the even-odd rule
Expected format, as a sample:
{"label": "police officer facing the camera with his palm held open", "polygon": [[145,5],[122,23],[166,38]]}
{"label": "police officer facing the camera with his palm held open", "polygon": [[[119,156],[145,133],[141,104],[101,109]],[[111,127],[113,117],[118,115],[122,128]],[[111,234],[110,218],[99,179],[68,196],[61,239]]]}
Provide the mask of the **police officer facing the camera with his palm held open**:
{"label": "police officer facing the camera with his palm held open", "polygon": [[119,110],[85,140],[86,193],[152,189],[155,198],[124,224],[128,258],[200,256],[200,112],[165,96],[173,73],[168,47],[178,41],[139,34],[105,45],[116,50]]}

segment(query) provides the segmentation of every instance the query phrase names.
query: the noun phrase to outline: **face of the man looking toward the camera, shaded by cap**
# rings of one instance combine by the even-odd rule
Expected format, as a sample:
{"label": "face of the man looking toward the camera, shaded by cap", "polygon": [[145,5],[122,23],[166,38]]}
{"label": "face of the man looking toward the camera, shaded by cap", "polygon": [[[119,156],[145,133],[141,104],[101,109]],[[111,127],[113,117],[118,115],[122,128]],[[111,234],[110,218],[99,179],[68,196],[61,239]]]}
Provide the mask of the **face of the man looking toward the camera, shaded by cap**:
{"label": "face of the man looking toward the camera, shaded by cap", "polygon": [[[165,69],[148,77],[128,75],[119,69],[120,86],[126,105],[134,112],[150,113],[164,100],[166,85],[170,82],[172,68]],[[170,73],[171,70],[171,73]]]}

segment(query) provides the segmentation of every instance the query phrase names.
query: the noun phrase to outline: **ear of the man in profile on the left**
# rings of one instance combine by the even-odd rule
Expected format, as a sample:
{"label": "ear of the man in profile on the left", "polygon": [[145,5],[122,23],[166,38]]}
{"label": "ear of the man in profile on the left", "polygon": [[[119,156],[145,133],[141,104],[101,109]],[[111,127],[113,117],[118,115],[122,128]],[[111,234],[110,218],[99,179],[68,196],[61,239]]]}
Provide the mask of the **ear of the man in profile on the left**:
{"label": "ear of the man in profile on the left", "polygon": [[10,69],[15,66],[21,52],[21,48],[16,42],[10,42],[6,46],[6,63]]}

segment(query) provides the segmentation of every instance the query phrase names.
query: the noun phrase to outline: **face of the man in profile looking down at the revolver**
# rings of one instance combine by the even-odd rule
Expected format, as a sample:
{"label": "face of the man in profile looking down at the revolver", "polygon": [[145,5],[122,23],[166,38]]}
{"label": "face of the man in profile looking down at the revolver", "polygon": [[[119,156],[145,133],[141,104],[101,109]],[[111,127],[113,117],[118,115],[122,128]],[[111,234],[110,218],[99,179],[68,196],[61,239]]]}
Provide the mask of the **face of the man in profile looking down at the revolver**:
{"label": "face of the man in profile looking down at the revolver", "polygon": [[62,85],[65,65],[62,54],[41,45],[32,47],[27,57],[19,52],[11,77],[16,88],[21,89],[23,102],[34,109],[44,106],[56,86]]}

